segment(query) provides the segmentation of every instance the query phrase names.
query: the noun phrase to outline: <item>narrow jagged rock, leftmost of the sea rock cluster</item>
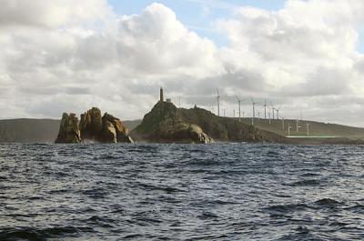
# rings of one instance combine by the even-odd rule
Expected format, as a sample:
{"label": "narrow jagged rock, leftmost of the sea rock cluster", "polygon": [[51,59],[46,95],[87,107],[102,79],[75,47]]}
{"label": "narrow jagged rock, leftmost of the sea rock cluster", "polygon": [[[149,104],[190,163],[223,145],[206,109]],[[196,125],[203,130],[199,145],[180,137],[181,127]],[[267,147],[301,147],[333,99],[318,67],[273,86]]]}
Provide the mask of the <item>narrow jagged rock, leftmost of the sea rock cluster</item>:
{"label": "narrow jagged rock, leftmost of the sea rock cluster", "polygon": [[56,143],[80,143],[81,135],[78,128],[78,118],[76,114],[62,115],[59,133],[56,138]]}

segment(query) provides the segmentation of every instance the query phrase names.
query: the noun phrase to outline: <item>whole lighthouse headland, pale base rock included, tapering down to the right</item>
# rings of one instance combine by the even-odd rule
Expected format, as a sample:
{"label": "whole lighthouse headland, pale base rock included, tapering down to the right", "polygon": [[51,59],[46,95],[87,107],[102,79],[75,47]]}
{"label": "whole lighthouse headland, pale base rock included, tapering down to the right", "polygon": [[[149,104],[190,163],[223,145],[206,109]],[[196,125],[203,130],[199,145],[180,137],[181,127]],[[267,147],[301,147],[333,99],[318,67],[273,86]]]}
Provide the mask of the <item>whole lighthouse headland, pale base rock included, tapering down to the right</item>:
{"label": "whole lighthouse headland, pale base rock included, tapering down to the right", "polygon": [[197,107],[180,109],[167,102],[158,102],[131,135],[136,140],[149,142],[210,143],[217,140],[288,143],[284,136],[260,130],[238,120],[220,117]]}

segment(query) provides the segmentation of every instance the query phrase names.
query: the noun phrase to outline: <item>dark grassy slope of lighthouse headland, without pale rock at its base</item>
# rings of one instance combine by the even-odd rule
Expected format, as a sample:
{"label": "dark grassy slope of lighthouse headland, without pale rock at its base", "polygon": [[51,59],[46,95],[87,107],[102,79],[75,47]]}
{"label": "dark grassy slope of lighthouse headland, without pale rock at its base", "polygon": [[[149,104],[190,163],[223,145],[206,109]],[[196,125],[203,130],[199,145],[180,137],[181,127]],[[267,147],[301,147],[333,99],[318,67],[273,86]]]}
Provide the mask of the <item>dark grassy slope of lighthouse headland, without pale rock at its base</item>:
{"label": "dark grassy slope of lighthouse headland, without pale rock at its base", "polygon": [[154,141],[158,133],[170,128],[168,123],[185,123],[199,126],[207,136],[216,141],[232,142],[279,142],[288,139],[265,130],[260,130],[233,118],[220,117],[202,108],[177,108],[172,103],[158,102],[152,111],[145,115],[142,123],[131,133],[133,138]]}

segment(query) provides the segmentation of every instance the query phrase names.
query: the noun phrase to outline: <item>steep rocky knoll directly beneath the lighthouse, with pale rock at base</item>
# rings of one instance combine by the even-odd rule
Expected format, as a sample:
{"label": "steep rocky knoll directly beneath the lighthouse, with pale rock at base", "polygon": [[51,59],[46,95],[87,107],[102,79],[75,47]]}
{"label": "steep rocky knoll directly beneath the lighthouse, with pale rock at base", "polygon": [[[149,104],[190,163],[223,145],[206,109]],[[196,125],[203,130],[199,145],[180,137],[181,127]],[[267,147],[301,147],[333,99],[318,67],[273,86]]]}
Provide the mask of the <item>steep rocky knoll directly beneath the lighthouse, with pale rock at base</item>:
{"label": "steep rocky knoll directly beneath the lighthouse, with pale rock at base", "polygon": [[199,126],[187,123],[175,105],[160,101],[144,116],[142,123],[136,126],[131,135],[139,141],[158,143],[213,142]]}

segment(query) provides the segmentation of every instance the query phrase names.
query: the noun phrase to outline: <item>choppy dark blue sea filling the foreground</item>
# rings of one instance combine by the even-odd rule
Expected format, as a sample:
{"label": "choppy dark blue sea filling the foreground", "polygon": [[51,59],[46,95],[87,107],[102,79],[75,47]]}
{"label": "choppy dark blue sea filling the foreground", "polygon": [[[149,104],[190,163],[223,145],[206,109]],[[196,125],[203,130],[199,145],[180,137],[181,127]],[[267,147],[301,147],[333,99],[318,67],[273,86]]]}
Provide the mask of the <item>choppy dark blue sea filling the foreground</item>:
{"label": "choppy dark blue sea filling the foreground", "polygon": [[0,240],[363,240],[364,146],[0,145]]}

